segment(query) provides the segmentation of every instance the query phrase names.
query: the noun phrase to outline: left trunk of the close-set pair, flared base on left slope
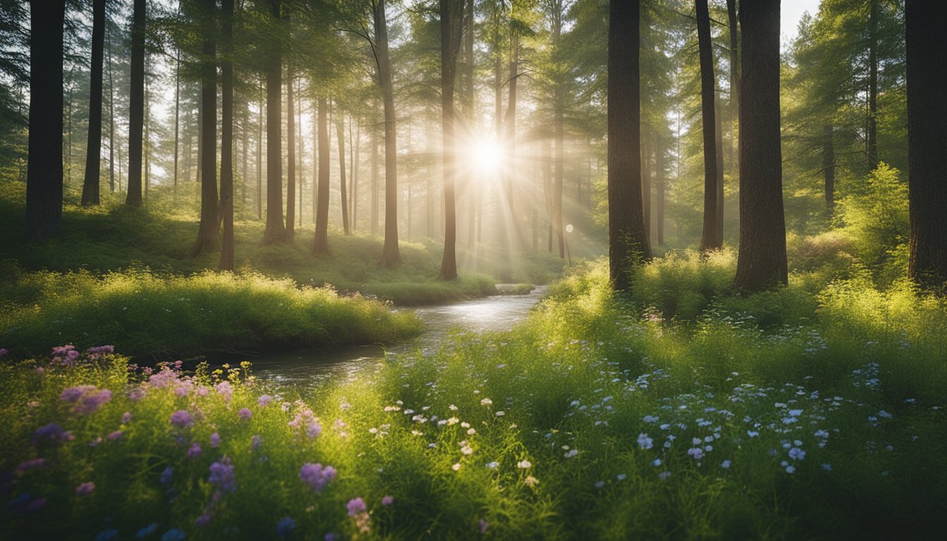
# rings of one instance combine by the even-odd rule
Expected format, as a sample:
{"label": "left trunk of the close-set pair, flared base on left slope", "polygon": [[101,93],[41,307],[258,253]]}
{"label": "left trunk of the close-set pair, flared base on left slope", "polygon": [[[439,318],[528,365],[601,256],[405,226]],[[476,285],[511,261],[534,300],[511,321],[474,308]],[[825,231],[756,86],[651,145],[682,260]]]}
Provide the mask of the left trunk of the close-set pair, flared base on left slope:
{"label": "left trunk of the close-set pair, flared base on left slope", "polygon": [[214,25],[214,0],[202,0],[201,17],[204,19],[204,45],[201,58],[201,225],[191,257],[217,249],[220,221],[217,198],[217,33]]}

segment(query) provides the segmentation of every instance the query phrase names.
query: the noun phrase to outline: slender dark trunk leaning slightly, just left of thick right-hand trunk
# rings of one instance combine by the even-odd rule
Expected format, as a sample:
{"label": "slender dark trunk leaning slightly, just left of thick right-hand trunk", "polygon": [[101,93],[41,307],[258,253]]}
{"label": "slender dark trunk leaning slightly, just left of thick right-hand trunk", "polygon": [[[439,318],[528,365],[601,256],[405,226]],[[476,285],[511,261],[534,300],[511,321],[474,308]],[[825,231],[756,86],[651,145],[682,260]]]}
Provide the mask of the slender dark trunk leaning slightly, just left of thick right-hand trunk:
{"label": "slender dark trunk leaning slightly, just left of thick right-hand trunk", "polygon": [[713,50],[710,43],[710,15],[707,0],[695,0],[697,8],[697,43],[701,62],[701,112],[704,125],[704,230],[701,253],[719,250],[717,242],[717,148],[714,133]]}

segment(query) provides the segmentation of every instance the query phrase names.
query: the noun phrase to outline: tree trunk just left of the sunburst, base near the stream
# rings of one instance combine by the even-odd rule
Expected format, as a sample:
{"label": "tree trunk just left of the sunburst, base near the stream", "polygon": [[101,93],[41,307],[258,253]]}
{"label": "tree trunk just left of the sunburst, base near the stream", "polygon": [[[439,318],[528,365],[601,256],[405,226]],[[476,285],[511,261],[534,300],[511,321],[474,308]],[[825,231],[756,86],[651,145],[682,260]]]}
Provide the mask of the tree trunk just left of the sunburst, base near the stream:
{"label": "tree trunk just left of the sunburst, base near the stream", "polygon": [[[471,1],[471,0],[468,0]],[[454,87],[457,55],[463,34],[464,0],[440,0],[440,106],[444,175],[444,256],[440,261],[440,280],[457,278],[457,216],[454,198],[456,174],[456,139]]]}

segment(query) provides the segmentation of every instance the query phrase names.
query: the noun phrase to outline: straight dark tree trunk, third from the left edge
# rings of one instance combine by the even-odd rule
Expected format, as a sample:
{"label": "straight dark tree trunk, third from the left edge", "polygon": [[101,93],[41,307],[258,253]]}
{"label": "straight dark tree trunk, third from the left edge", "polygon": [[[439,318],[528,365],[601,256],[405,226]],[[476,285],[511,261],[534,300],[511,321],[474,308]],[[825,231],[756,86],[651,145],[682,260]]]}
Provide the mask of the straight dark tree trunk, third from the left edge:
{"label": "straight dark tree trunk, third from the left edge", "polygon": [[141,205],[141,151],[145,120],[145,0],[134,0],[132,88],[128,100],[128,195],[126,205]]}

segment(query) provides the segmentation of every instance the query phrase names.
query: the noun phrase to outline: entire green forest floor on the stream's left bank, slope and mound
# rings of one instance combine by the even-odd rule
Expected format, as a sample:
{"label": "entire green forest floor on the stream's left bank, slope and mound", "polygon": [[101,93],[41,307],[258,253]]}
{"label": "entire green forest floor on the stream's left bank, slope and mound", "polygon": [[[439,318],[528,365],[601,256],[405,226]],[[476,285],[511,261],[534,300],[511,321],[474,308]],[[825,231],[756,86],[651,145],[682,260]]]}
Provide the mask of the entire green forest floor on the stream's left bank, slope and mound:
{"label": "entire green forest floor on the stream's left bank, slope and mound", "polygon": [[[135,357],[392,343],[421,332],[420,321],[390,304],[435,304],[497,293],[487,274],[438,280],[441,246],[401,243],[403,262],[379,264],[382,239],[332,231],[331,252],[313,256],[313,229],[295,241],[262,243],[263,225],[235,224],[238,271],[218,274],[219,254],[190,257],[197,231],[194,187],[152,189],[145,207],[118,201],[83,208],[67,201],[63,236],[25,243],[24,186],[0,183],[2,347],[45,354],[50,336],[79,348],[115,345]],[[104,194],[106,198],[111,194]],[[497,254],[472,254],[480,268]],[[545,283],[559,258],[521,258],[509,279]],[[209,269],[209,270],[208,270]]]}

